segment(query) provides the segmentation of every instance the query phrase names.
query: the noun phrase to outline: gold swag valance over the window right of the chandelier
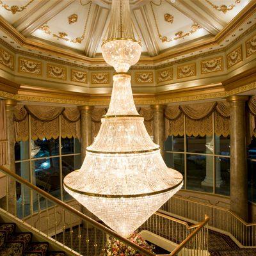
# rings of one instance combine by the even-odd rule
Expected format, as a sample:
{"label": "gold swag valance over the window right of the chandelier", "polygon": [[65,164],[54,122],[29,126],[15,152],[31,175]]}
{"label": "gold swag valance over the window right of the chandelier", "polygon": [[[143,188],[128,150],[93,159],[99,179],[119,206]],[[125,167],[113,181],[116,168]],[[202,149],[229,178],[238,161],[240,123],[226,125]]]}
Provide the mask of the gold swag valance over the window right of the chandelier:
{"label": "gold swag valance over the window right of the chandelier", "polygon": [[227,137],[230,134],[230,108],[228,102],[207,102],[168,106],[164,111],[166,138],[169,135],[184,136],[184,116],[186,116],[186,135],[211,136],[214,113],[216,135]]}

